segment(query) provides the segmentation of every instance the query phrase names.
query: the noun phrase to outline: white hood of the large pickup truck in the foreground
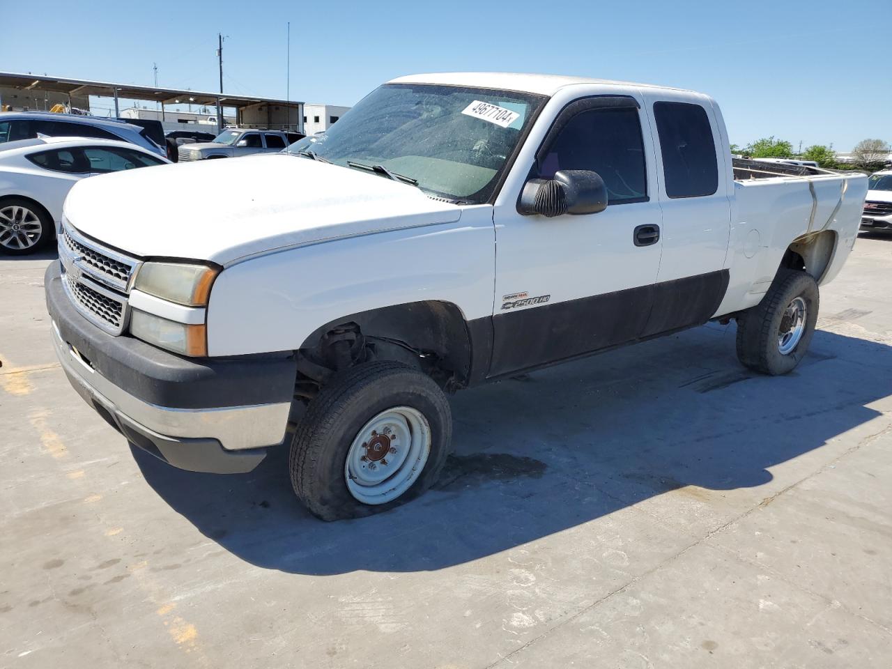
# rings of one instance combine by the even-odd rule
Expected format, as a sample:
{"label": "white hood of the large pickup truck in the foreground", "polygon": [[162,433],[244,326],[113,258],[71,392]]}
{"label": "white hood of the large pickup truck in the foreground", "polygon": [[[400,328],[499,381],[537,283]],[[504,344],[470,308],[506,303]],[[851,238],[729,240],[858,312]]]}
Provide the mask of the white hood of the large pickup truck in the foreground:
{"label": "white hood of the large pickup truck in the foreground", "polygon": [[460,216],[458,206],[415,186],[285,153],[87,178],[65,201],[70,224],[103,244],[220,265]]}

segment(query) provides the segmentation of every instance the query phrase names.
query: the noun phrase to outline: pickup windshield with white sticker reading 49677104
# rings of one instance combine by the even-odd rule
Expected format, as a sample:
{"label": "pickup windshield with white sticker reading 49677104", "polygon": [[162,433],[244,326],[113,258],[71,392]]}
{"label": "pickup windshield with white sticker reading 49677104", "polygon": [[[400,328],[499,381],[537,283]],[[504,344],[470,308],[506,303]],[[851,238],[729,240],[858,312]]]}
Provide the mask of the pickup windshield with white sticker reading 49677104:
{"label": "pickup windshield with white sticker reading 49677104", "polygon": [[385,84],[323,135],[301,139],[287,152],[311,152],[343,167],[383,166],[430,194],[486,202],[545,100],[484,88]]}

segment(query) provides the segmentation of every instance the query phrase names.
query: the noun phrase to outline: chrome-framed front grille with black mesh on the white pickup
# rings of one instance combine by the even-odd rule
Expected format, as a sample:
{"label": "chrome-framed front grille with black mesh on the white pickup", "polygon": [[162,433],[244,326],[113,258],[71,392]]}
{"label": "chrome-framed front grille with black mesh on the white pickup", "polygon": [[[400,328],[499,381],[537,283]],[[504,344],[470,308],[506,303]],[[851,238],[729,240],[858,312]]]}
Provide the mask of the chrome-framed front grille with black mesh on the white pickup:
{"label": "chrome-framed front grille with black mesh on the white pickup", "polygon": [[81,235],[62,219],[62,282],[75,309],[110,335],[127,327],[130,285],[142,262]]}

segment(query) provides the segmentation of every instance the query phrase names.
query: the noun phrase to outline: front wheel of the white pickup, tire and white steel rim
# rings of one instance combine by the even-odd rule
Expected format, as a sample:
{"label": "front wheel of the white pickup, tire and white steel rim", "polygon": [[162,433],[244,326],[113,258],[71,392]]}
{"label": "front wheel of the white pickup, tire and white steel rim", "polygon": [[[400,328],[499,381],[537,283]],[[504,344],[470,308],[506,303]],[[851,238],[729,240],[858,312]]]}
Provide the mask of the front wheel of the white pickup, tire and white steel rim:
{"label": "front wheel of the white pickup, tire and white steel rim", "polygon": [[[310,401],[294,433],[294,493],[322,520],[386,511],[437,480],[451,437],[449,401],[429,376],[392,361],[345,369]],[[384,454],[373,453],[382,446]],[[364,484],[381,476],[387,478]]]}

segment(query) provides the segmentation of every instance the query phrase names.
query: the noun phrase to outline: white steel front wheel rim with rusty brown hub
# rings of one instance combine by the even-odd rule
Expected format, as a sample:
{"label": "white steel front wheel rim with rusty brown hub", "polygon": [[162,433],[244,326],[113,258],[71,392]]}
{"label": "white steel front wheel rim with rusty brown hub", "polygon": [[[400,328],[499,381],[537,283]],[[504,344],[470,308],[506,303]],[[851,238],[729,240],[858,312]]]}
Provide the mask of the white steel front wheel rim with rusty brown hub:
{"label": "white steel front wheel rim with rusty brown hub", "polygon": [[363,425],[344,462],[347,490],[363,504],[386,504],[408,491],[431,454],[431,426],[411,407],[393,407]]}

